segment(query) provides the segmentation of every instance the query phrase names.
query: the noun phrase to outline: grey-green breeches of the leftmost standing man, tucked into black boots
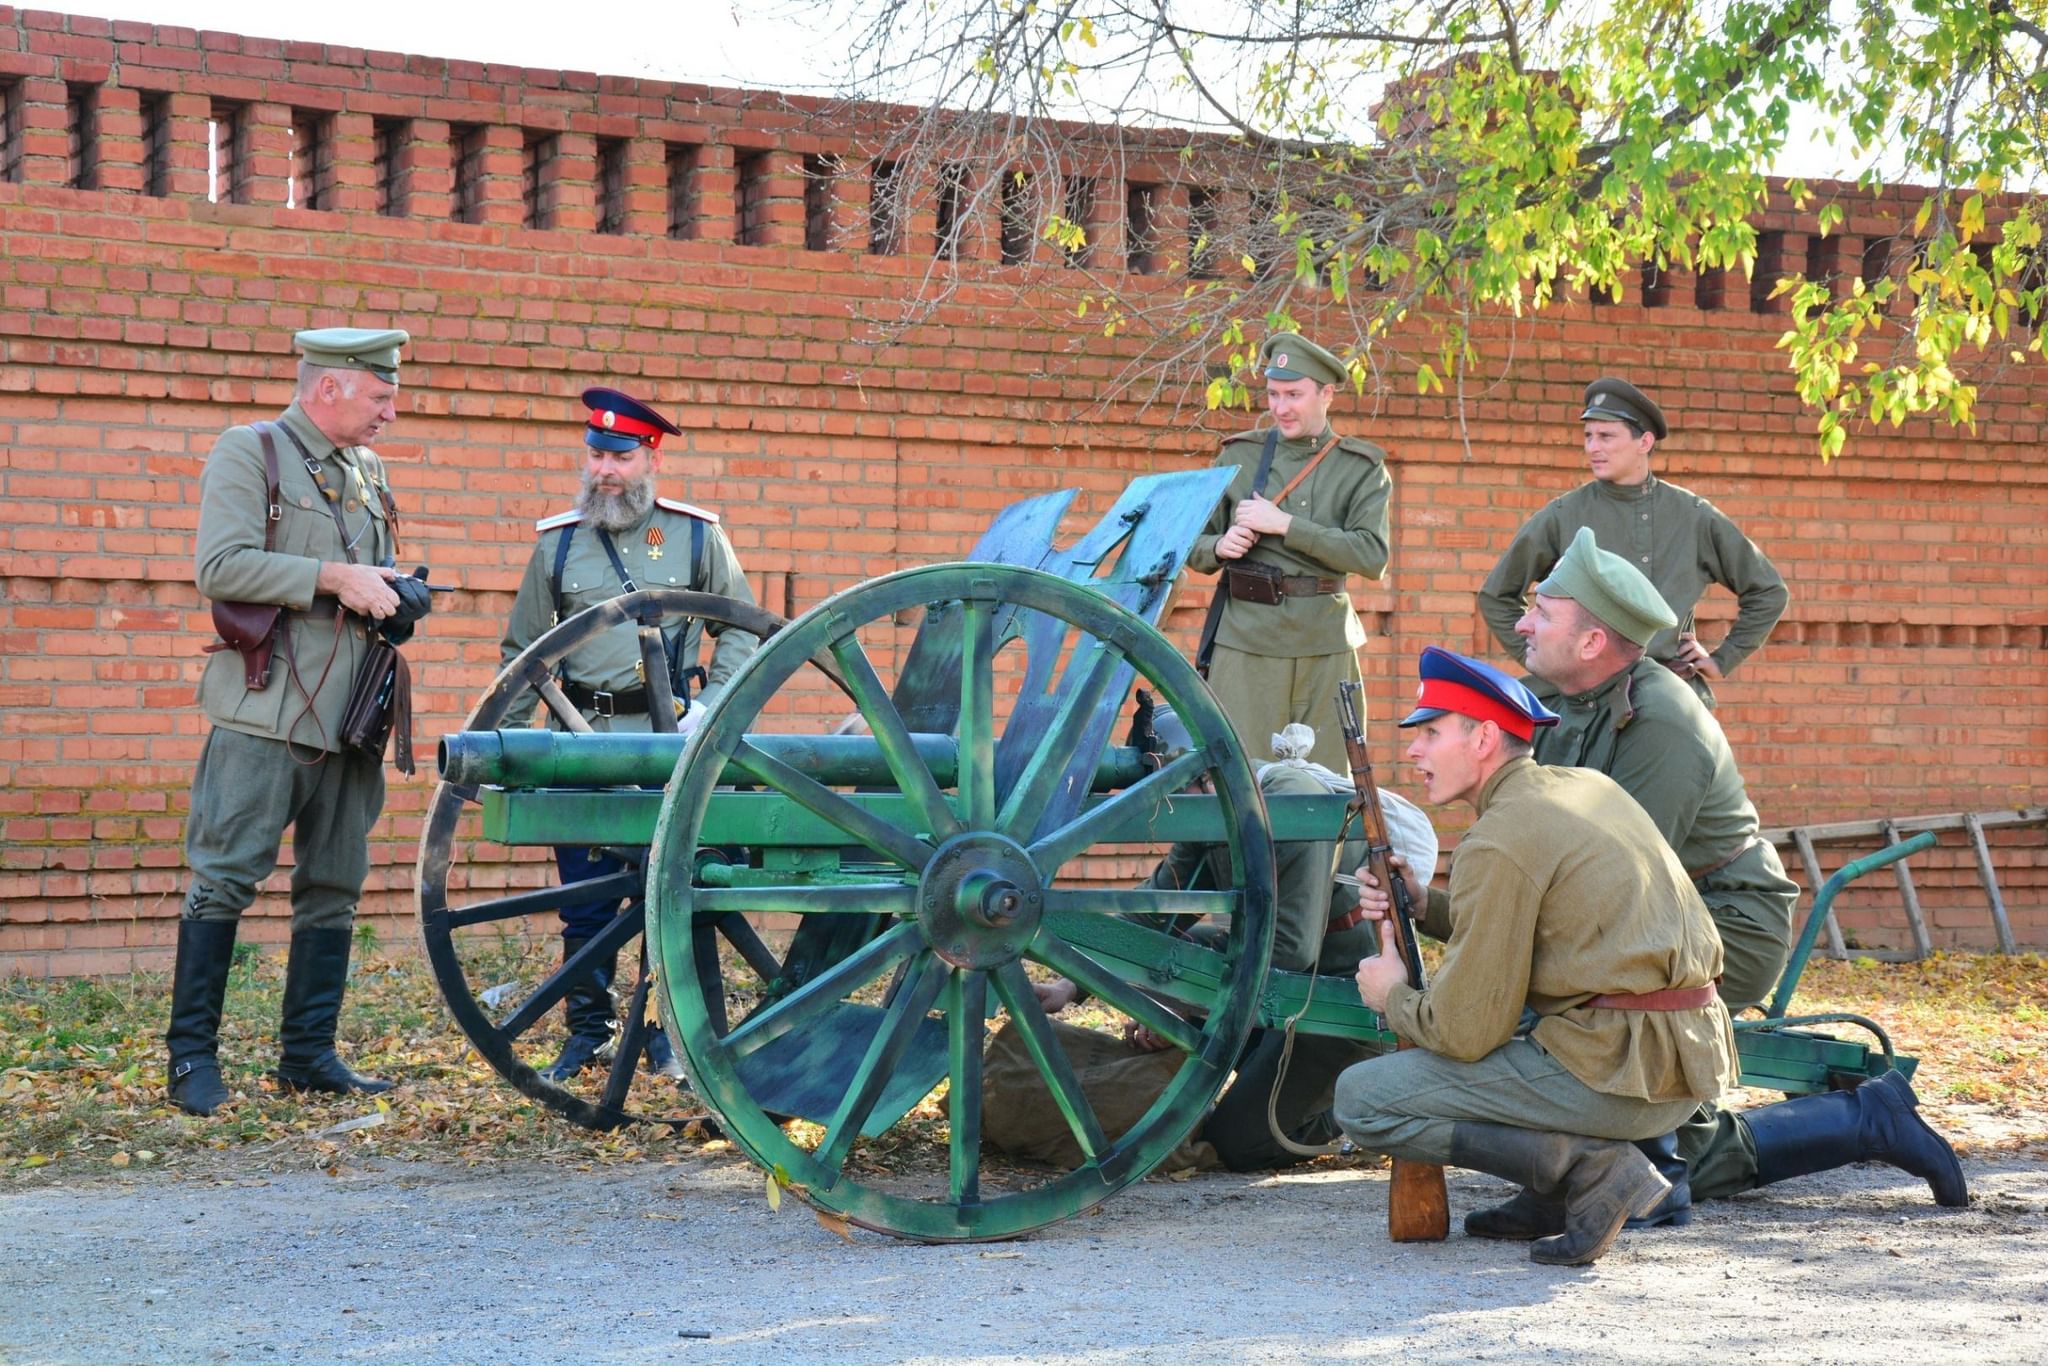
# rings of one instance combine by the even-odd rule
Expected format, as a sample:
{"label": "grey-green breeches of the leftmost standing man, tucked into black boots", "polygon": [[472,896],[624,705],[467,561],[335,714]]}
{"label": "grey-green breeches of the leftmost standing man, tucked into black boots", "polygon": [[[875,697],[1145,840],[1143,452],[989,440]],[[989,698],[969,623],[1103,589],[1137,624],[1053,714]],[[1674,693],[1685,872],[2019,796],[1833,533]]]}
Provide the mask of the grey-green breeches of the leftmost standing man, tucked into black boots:
{"label": "grey-green breeches of the leftmost standing man, tucked into black boots", "polygon": [[186,920],[242,920],[291,829],[291,932],[346,930],[371,870],[383,758],[330,752],[301,764],[281,739],[213,727],[193,774]]}

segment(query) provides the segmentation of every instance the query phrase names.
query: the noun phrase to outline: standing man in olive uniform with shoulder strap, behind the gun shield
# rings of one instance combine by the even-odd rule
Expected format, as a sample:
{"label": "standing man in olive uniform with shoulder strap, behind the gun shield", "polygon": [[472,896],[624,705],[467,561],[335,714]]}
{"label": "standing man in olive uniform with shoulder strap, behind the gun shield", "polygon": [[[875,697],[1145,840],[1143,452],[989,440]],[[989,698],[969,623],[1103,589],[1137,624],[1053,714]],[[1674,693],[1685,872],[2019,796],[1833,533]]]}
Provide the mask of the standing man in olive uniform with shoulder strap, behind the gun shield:
{"label": "standing man in olive uniform with shoulder strap, behind the gun shield", "polygon": [[1223,442],[1235,469],[1188,553],[1219,573],[1196,657],[1249,754],[1288,723],[1317,735],[1315,760],[1343,770],[1337,684],[1360,682],[1366,629],[1350,575],[1386,571],[1393,477],[1386,453],[1329,422],[1343,360],[1282,332],[1260,346],[1270,424]]}

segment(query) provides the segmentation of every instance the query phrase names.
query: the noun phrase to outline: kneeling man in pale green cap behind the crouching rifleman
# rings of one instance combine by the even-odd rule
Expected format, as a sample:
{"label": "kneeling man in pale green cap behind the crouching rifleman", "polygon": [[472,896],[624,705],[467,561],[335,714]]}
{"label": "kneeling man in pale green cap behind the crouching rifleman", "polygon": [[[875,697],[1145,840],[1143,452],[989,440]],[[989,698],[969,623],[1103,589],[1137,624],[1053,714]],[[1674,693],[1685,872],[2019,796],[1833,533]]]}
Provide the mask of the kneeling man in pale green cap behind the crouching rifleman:
{"label": "kneeling man in pale green cap behind the crouching rifleman", "polygon": [[[1559,723],[1536,737],[1536,762],[1604,772],[1649,813],[1706,901],[1720,936],[1720,997],[1741,1012],[1769,995],[1790,958],[1798,885],[1759,834],[1720,723],[1642,653],[1669,625],[1651,582],[1581,530],[1518,623],[1530,670],[1563,694]],[[1937,1204],[1968,1200],[1954,1151],[1919,1118],[1901,1073],[1858,1087],[1855,1098],[1741,1114],[1702,1104],[1677,1133],[1640,1145],[1673,1186],[1640,1223],[1681,1225],[1694,1200],[1851,1161],[1911,1171]],[[1559,1227],[1554,1206],[1522,1196],[1466,1216],[1466,1229],[1485,1237],[1534,1239]]]}

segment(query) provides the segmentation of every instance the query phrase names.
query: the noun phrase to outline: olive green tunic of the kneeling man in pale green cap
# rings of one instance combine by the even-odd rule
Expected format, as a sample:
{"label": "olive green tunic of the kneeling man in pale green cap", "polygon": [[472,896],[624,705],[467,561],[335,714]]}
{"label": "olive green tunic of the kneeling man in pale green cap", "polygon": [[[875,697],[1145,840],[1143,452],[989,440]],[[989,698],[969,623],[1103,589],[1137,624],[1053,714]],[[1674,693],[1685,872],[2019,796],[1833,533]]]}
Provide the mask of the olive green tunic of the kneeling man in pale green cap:
{"label": "olive green tunic of the kneeling man in pale green cap", "polygon": [[1595,768],[1636,799],[1677,852],[1720,930],[1729,1010],[1755,1006],[1792,952],[1798,885],[1757,834],[1757,809],[1720,723],[1655,659],[1556,705],[1536,762]]}

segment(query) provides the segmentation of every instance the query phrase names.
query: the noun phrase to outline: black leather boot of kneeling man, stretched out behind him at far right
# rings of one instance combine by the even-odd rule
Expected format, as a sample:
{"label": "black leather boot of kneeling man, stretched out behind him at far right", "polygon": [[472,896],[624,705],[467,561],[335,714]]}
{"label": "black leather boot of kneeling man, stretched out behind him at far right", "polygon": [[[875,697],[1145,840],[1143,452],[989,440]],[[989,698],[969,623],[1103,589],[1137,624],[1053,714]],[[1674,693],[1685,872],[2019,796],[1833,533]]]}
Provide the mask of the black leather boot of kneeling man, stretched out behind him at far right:
{"label": "black leather boot of kneeling man, stretched out behind him at far right", "polygon": [[1962,1208],[1970,1188],[1956,1149],[1919,1116],[1905,1075],[1888,1071],[1853,1092],[1800,1096],[1743,1112],[1757,1143],[1757,1186],[1884,1161],[1927,1182],[1933,1202]]}

